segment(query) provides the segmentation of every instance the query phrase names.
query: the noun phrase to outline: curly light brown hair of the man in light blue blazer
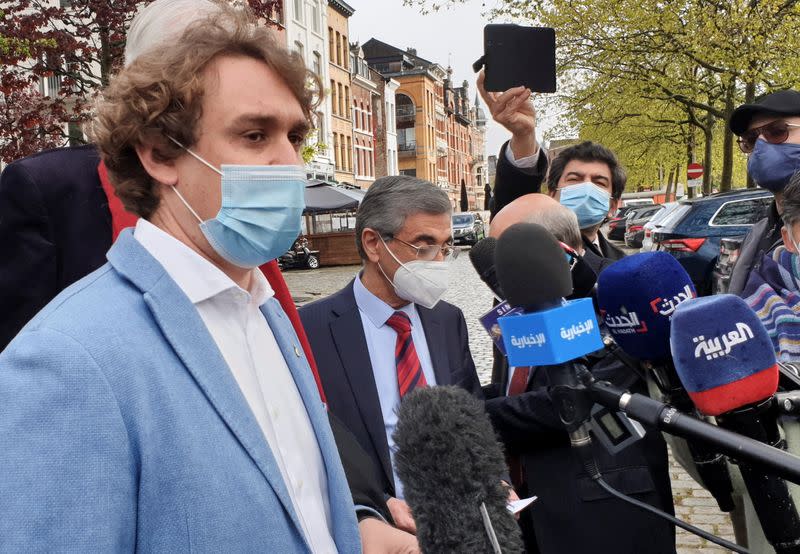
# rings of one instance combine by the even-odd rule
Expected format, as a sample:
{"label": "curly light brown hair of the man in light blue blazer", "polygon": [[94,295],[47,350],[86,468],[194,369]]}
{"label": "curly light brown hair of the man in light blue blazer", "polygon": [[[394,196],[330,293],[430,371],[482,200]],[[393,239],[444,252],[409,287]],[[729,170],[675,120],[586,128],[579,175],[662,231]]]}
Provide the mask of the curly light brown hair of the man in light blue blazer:
{"label": "curly light brown hair of the man in light blue blazer", "polygon": [[98,101],[89,134],[108,168],[125,208],[149,219],[159,204],[156,183],[145,171],[136,147],[153,145],[161,161],[196,140],[202,115],[203,70],[218,56],[240,55],[266,63],[280,75],[309,122],[322,98],[319,78],[302,57],[279,44],[267,27],[246,10],[220,6],[219,13],[189,25],[179,40],[141,54],[116,75]]}

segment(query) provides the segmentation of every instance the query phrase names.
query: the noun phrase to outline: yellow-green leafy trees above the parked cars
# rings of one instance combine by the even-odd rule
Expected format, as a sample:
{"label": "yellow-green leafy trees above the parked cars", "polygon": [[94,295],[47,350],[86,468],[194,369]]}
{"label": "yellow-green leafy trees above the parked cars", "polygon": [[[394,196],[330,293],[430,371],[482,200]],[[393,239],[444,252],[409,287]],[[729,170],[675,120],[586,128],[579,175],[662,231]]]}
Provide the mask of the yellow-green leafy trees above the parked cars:
{"label": "yellow-green leafy trees above the parked cars", "polygon": [[796,0],[501,0],[491,13],[557,29],[558,98],[582,136],[617,142],[634,173],[642,150],[672,157],[661,143],[683,136],[687,161],[706,165],[707,191],[744,183],[726,126],[735,107],[800,82]]}

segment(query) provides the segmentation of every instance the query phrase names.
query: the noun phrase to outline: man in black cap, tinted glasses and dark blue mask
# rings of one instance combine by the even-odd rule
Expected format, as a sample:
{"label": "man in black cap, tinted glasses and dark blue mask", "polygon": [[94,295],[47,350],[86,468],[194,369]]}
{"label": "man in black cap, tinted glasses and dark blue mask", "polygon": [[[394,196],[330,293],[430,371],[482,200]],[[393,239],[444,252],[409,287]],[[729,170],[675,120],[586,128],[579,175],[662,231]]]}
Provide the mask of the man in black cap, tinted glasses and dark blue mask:
{"label": "man in black cap, tinted glasses and dark blue mask", "polygon": [[734,110],[729,122],[748,154],[747,172],[775,195],[767,217],[753,225],[739,251],[728,292],[741,294],[755,263],[782,244],[783,189],[800,170],[800,92],[768,94]]}

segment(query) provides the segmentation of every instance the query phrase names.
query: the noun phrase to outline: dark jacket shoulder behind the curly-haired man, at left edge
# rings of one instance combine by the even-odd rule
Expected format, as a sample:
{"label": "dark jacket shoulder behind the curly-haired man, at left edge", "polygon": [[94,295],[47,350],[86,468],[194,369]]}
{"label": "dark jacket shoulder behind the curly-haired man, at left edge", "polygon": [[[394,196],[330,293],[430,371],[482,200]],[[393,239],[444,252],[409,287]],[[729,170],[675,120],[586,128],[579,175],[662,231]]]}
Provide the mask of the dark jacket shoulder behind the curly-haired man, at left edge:
{"label": "dark jacket shoulder behind the curly-haired man, at left edge", "polygon": [[0,175],[0,351],[59,292],[106,263],[111,213],[94,146],[17,160]]}

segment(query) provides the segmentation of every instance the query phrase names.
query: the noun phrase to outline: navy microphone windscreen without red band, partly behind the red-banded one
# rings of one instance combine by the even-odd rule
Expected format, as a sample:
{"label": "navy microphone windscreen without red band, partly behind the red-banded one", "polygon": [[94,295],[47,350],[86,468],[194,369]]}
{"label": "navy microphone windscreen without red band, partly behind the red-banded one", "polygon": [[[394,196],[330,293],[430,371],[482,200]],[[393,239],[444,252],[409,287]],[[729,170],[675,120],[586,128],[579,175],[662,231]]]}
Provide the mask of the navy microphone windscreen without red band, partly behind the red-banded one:
{"label": "navy microphone windscreen without red band, partly behind the red-banded one", "polygon": [[666,252],[622,258],[597,280],[600,316],[619,347],[640,360],[669,357],[670,317],[696,296],[689,274]]}

